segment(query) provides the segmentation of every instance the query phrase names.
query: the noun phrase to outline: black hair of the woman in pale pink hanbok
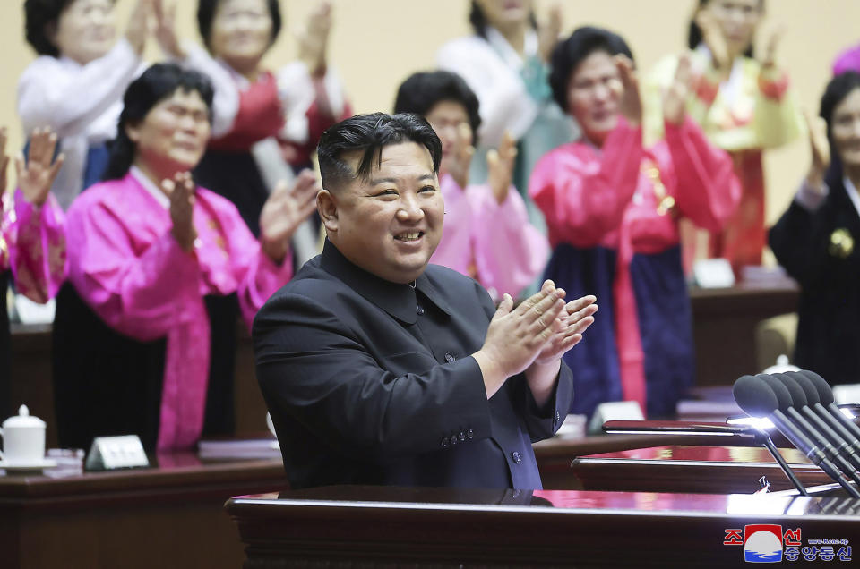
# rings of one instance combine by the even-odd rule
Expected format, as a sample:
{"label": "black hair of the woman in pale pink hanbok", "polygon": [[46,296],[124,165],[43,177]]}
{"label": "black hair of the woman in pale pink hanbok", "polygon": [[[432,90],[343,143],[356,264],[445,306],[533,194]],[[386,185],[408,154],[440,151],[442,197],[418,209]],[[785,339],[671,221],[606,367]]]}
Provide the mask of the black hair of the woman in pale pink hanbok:
{"label": "black hair of the woman in pale pink hanbok", "polygon": [[477,127],[481,125],[475,91],[457,73],[446,71],[413,73],[397,89],[395,113],[417,113],[425,116],[438,103],[459,103],[469,115],[473,144],[477,145]]}

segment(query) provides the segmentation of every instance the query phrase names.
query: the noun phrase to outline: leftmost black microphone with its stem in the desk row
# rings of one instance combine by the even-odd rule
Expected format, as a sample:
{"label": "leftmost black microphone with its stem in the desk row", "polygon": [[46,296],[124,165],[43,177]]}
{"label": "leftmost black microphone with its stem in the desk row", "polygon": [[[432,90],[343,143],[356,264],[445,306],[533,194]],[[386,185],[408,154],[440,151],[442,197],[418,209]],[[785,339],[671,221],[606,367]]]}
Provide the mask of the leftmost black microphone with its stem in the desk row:
{"label": "leftmost black microphone with its stem in the desk row", "polygon": [[[781,387],[782,395],[785,399],[788,399],[787,389],[776,380],[773,383]],[[842,473],[821,452],[821,449],[815,446],[813,441],[809,440],[800,429],[797,429],[783,412],[779,411],[779,400],[776,393],[774,393],[773,386],[762,381],[760,378],[741,376],[735,381],[732,393],[735,395],[735,402],[744,412],[751,417],[767,417],[770,419],[777,426],[779,432],[785,435],[813,464],[821,468],[831,479],[839,482],[851,497],[860,497],[860,492],[842,477]],[[805,495],[808,496],[808,494]]]}

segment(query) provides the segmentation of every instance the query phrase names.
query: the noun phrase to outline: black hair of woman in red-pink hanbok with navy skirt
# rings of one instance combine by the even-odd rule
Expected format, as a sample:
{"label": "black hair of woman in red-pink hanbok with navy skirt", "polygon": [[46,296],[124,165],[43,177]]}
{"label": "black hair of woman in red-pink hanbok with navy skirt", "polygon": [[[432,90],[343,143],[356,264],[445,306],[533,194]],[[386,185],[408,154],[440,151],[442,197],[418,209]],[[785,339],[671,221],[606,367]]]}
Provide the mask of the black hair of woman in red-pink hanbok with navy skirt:
{"label": "black hair of woman in red-pink hanbok with navy skirt", "polygon": [[549,86],[553,88],[553,98],[563,111],[567,108],[567,84],[572,72],[589,55],[602,51],[609,55],[627,55],[633,60],[633,53],[624,38],[603,28],[583,26],[573,30],[570,38],[556,44],[550,64]]}

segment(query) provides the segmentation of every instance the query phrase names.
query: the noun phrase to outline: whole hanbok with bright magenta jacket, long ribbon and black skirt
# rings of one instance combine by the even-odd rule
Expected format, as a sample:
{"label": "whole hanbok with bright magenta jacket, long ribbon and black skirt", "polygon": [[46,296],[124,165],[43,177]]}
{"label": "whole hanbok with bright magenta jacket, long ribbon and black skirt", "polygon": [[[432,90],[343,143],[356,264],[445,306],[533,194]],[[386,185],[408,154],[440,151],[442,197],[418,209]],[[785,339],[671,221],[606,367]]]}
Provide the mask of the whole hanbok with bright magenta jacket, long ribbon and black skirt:
{"label": "whole hanbok with bright magenta jacket, long ribbon and black skirt", "polygon": [[[198,188],[193,207],[198,236],[191,253],[183,251],[170,233],[168,208],[167,196],[132,167],[121,180],[90,187],[69,210],[68,264],[73,293],[115,334],[151,348],[144,350],[144,367],[152,361],[162,365],[155,370],[160,378],[138,390],[145,401],[135,407],[133,396],[124,392],[119,398],[129,407],[125,412],[92,410],[112,419],[102,425],[91,422],[82,429],[69,426],[71,443],[85,445],[87,438],[125,429],[131,431],[126,434],[139,434],[149,448],[185,448],[204,433],[204,419],[210,425],[223,422],[224,415],[232,418],[236,311],[213,310],[213,306],[223,308],[225,299],[235,297],[238,311],[250,324],[262,303],[292,276],[289,256],[280,266],[273,263],[228,200]],[[59,310],[57,316],[59,319]],[[70,330],[73,324],[68,322]],[[230,354],[227,360],[226,354]],[[105,389],[140,374],[140,369],[132,369],[131,360],[101,370],[102,375],[115,374],[100,379]],[[82,379],[83,385],[64,385],[64,392],[82,387],[99,391],[95,383],[99,378],[91,378],[99,373],[91,368],[78,371],[90,377]],[[74,382],[81,375],[72,373],[70,377]],[[227,390],[229,395],[217,389]],[[110,406],[105,393],[87,396]],[[82,409],[91,408],[82,397],[78,403]],[[75,410],[62,414],[58,419],[73,422]],[[131,415],[136,419],[127,420]],[[61,435],[65,426],[60,425]],[[217,434],[227,434],[220,430]]]}

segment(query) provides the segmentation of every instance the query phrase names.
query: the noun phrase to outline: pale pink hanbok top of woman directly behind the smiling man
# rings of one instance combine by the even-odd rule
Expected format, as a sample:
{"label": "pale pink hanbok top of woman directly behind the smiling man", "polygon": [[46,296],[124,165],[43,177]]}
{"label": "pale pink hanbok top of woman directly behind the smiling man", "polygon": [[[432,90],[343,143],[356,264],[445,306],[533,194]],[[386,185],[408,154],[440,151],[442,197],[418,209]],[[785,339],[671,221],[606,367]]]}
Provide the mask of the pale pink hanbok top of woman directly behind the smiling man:
{"label": "pale pink hanbok top of woman directly behind the smiling man", "polygon": [[549,242],[529,222],[520,194],[512,187],[499,204],[488,185],[469,185],[463,191],[451,174],[443,174],[439,186],[445,222],[430,262],[476,279],[493,300],[503,293],[517,298],[549,258]]}

